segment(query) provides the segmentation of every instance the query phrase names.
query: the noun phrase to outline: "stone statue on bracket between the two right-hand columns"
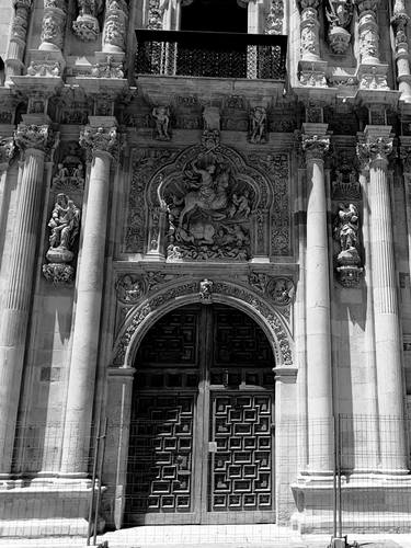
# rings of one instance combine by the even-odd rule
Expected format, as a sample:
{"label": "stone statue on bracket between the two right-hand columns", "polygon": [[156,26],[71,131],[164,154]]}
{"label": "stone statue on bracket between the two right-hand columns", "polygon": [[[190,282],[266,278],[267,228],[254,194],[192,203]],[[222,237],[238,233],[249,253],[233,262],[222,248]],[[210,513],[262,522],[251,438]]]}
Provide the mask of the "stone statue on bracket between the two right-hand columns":
{"label": "stone statue on bracket between the two right-hand columns", "polygon": [[358,210],[354,204],[339,204],[334,219],[334,239],[340,244],[336,256],[336,272],[344,287],[354,287],[359,283],[363,272],[358,254]]}

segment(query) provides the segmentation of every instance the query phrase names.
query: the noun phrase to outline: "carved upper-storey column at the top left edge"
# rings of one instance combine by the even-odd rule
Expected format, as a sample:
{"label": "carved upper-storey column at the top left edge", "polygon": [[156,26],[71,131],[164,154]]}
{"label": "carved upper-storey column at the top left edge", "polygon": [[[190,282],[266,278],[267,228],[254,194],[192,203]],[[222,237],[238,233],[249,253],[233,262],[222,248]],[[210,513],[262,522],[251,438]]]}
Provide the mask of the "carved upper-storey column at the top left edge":
{"label": "carved upper-storey column at the top left edge", "polygon": [[11,23],[10,37],[5,54],[5,85],[10,85],[12,76],[22,73],[24,64],[30,10],[32,0],[14,0],[14,16]]}

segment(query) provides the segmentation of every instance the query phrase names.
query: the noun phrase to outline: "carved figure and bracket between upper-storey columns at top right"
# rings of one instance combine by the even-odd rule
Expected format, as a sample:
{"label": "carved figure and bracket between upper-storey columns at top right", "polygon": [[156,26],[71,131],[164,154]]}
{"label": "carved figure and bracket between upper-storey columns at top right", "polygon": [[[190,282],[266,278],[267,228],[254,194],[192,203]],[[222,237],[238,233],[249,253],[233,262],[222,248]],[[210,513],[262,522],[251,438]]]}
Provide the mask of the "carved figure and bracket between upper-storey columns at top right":
{"label": "carved figure and bracket between upper-storey columns at top right", "polygon": [[345,54],[349,48],[353,9],[352,0],[328,0],[328,7],[326,8],[329,22],[328,39],[334,54]]}

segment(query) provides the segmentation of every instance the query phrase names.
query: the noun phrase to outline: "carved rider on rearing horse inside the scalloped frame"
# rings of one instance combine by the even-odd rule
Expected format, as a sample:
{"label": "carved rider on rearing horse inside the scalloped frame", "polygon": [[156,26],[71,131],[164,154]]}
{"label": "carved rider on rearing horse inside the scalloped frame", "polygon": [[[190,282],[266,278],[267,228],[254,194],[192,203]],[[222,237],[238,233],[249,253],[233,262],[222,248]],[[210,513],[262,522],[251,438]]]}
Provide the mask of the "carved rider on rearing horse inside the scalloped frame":
{"label": "carved rider on rearing horse inside the scalloped frame", "polygon": [[164,196],[168,259],[248,259],[252,198],[222,159],[208,153],[189,162]]}

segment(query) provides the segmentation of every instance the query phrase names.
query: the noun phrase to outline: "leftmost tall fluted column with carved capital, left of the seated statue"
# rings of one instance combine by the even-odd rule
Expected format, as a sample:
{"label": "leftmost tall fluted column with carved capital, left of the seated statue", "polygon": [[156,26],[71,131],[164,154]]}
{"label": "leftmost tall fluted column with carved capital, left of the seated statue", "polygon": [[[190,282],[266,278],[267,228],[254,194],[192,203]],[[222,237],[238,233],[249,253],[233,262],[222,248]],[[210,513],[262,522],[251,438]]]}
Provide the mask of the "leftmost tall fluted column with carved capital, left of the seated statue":
{"label": "leftmost tall fluted column with carved capital, left of the seated statue", "polygon": [[50,130],[47,125],[20,124],[14,138],[24,150],[24,168],[0,307],[0,477],[11,471]]}

